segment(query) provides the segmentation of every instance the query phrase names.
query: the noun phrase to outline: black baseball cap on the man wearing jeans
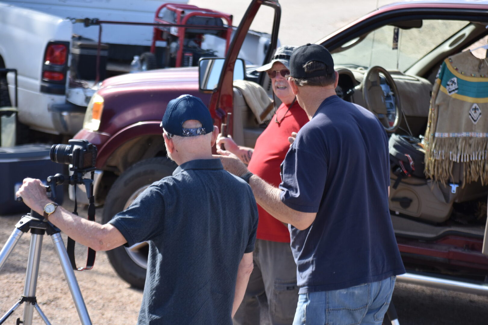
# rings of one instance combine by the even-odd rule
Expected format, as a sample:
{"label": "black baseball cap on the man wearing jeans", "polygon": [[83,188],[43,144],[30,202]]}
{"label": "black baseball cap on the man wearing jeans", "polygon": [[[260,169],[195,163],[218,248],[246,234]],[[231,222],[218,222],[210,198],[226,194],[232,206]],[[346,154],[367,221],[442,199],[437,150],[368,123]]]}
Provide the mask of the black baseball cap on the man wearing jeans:
{"label": "black baseball cap on the man wearing jeans", "polygon": [[[310,61],[325,64],[325,70],[305,73],[304,65]],[[334,60],[327,49],[319,44],[306,44],[293,50],[290,57],[290,76],[294,78],[311,78],[334,73]]]}

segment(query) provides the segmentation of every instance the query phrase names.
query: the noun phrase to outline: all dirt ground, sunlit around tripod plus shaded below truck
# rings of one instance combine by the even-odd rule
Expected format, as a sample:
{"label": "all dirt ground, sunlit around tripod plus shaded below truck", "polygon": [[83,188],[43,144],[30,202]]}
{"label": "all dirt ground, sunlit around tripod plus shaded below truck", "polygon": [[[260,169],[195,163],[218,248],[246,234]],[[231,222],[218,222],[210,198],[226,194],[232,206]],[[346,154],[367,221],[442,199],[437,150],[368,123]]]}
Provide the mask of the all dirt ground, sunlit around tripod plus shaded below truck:
{"label": "all dirt ground, sunlit around tripod plus shaded below truck", "polygon": [[[66,199],[63,206],[68,210],[73,209],[73,203]],[[80,215],[86,216],[86,211],[79,212]],[[21,215],[0,216],[0,249]],[[102,209],[97,209],[96,219],[99,222],[101,215]],[[64,234],[62,238],[66,244]],[[30,233],[22,235],[0,271],[0,317],[20,299],[23,292],[29,239]],[[81,266],[86,259],[86,248],[78,245],[76,254],[78,266]],[[75,275],[92,324],[136,324],[142,290],[130,287],[117,276],[105,252],[97,253],[95,267],[92,270],[76,271]],[[43,239],[36,296],[39,306],[51,324],[80,324],[58,256],[51,238],[47,235]],[[397,283],[393,302],[402,325],[487,324],[486,296]],[[16,324],[17,318],[22,318],[22,313],[23,305],[4,324]],[[262,315],[262,325],[269,324],[266,319],[266,316]],[[44,324],[36,311],[33,324]]]}

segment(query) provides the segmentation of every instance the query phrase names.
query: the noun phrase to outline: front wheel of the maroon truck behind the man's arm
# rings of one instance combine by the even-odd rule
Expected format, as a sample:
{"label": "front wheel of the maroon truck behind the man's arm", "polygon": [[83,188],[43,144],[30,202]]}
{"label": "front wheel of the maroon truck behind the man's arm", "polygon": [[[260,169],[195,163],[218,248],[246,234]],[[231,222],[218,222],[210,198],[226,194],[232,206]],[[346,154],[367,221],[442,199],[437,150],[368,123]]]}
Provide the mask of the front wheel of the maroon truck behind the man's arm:
{"label": "front wheel of the maroon truck behind the man's arm", "polygon": [[[103,207],[103,224],[126,209],[153,182],[173,174],[176,164],[166,157],[142,160],[128,168],[112,185]],[[107,251],[108,259],[119,276],[136,288],[143,288],[146,278],[147,243],[130,248],[120,246]]]}

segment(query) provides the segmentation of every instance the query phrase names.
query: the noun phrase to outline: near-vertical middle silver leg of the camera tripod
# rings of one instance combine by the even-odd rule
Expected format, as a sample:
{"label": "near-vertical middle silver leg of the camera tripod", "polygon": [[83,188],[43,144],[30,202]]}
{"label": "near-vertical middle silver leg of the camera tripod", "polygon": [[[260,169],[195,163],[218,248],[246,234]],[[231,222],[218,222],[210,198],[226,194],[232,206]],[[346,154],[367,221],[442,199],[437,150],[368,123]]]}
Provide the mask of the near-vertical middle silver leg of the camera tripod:
{"label": "near-vertical middle silver leg of the camera tripod", "polygon": [[[36,297],[37,276],[39,262],[41,261],[42,237],[40,234],[31,234],[29,256],[27,257],[27,271],[25,272],[24,297]],[[23,325],[32,325],[34,304],[25,302]]]}

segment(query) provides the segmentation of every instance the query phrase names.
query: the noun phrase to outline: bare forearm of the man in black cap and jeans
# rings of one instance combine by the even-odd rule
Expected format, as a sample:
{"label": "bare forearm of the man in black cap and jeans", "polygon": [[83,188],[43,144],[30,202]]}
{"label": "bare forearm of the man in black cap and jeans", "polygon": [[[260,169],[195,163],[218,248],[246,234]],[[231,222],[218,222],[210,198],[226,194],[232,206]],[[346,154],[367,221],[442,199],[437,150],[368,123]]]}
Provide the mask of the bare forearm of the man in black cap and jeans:
{"label": "bare forearm of the man in black cap and jeans", "polygon": [[274,218],[298,229],[306,229],[315,219],[316,213],[306,213],[288,208],[280,199],[281,190],[252,175],[249,179],[256,202]]}

